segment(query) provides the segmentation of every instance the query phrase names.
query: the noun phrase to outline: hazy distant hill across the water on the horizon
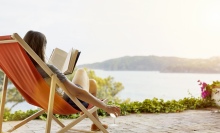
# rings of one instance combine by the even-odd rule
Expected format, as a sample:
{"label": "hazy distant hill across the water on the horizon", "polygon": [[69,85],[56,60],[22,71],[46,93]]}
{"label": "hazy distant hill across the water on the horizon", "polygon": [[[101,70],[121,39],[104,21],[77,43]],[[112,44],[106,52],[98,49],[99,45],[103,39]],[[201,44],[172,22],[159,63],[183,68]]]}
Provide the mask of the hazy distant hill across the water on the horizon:
{"label": "hazy distant hill across the water on the horizon", "polygon": [[220,73],[220,57],[187,59],[159,56],[125,56],[78,67],[107,71],[159,71],[175,73]]}

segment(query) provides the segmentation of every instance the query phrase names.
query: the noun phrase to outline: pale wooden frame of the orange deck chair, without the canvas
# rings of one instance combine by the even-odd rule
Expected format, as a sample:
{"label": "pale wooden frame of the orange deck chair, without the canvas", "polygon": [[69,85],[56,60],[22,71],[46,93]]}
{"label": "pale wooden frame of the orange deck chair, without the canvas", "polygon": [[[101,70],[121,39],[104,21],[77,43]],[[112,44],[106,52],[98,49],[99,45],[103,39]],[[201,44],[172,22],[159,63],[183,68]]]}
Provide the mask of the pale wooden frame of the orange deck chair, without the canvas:
{"label": "pale wooden frame of the orange deck chair, without the canvas", "polygon": [[[51,85],[50,85],[50,94],[49,94],[49,104],[47,109],[42,109],[38,111],[37,113],[33,114],[32,116],[26,118],[25,120],[21,121],[19,124],[15,125],[12,129],[8,130],[7,132],[12,132],[16,130],[17,128],[21,127],[22,125],[26,124],[27,122],[35,119],[37,116],[43,114],[44,112],[47,113],[47,120],[46,120],[46,129],[45,133],[50,133],[51,131],[51,122],[52,119],[55,120],[60,126],[61,129],[58,131],[58,133],[63,133],[67,130],[69,130],[71,127],[82,121],[84,118],[88,117],[99,129],[101,129],[102,132],[108,133],[108,131],[102,126],[102,124],[92,115],[93,112],[95,112],[98,108],[93,107],[92,109],[87,110],[76,97],[73,97],[68,90],[65,88],[63,83],[57,78],[57,75],[54,74],[50,68],[36,55],[36,53],[29,47],[29,45],[17,34],[14,33],[11,35],[12,39],[10,40],[0,40],[0,45],[5,43],[19,43],[23,49],[40,65],[40,67],[43,68],[43,70],[50,76],[51,78]],[[4,114],[4,107],[6,102],[6,92],[7,92],[7,85],[8,85],[8,77],[6,74],[4,74],[4,81],[2,86],[2,97],[1,97],[1,104],[0,104],[0,132],[2,131],[2,123],[3,123],[3,114]],[[55,88],[56,85],[58,85],[70,98],[72,101],[76,103],[76,105],[84,112],[82,116],[79,118],[73,120],[70,124],[64,125],[62,122],[60,122],[54,115],[53,115],[53,105],[54,105],[54,95],[55,95]],[[106,102],[107,100],[104,100],[103,102]],[[46,111],[47,110],[47,111]]]}

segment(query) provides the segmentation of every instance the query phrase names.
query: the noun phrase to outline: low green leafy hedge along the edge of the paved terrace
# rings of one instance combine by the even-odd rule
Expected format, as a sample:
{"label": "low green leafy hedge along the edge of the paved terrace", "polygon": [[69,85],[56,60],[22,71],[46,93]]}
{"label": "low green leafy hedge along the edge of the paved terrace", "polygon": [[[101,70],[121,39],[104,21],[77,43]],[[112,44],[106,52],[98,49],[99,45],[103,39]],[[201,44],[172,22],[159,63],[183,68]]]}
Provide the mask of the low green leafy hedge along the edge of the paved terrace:
{"label": "low green leafy hedge along the edge of the paved terrace", "polygon": [[[164,101],[163,99],[145,99],[143,102],[139,101],[130,101],[114,99],[108,102],[109,105],[117,105],[121,108],[121,115],[128,115],[130,113],[177,113],[182,112],[184,110],[192,110],[192,109],[204,109],[208,107],[216,107],[219,108],[213,100],[211,99],[202,99],[202,98],[194,98],[187,97],[180,100],[168,100]],[[4,121],[12,121],[12,120],[23,120],[28,116],[36,113],[38,110],[28,110],[24,111],[16,111],[15,113],[10,113],[9,109],[5,109],[4,112]],[[103,111],[102,109],[98,109],[99,116],[108,116],[109,114]],[[72,115],[58,115],[55,117],[59,119],[75,119],[79,117],[79,114]],[[45,120],[47,118],[46,114],[42,114],[36,119]]]}

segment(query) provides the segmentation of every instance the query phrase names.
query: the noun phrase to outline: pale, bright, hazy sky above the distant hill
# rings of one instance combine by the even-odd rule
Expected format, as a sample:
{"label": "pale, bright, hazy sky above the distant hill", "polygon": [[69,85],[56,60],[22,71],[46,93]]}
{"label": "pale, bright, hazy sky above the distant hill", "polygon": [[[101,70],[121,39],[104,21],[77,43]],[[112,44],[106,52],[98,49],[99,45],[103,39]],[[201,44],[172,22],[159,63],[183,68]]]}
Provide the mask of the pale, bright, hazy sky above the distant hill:
{"label": "pale, bright, hazy sky above the distant hill", "polygon": [[123,56],[220,56],[220,0],[4,0],[0,35],[29,30],[78,65]]}

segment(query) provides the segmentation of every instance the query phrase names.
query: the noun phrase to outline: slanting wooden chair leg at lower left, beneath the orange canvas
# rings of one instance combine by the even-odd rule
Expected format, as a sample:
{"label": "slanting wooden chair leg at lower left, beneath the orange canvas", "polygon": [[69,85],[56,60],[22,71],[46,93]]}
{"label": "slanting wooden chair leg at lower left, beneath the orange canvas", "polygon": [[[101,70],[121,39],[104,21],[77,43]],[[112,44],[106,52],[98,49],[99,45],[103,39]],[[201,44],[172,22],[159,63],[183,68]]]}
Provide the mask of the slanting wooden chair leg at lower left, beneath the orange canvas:
{"label": "slanting wooden chair leg at lower left, beneath the orange canvas", "polygon": [[44,110],[40,110],[37,113],[29,116],[28,118],[24,119],[23,121],[21,121],[20,123],[18,123],[17,125],[15,125],[12,129],[8,130],[7,132],[12,132],[15,129],[21,127],[22,125],[28,123],[29,121],[35,119],[36,117],[40,116],[41,114],[43,114],[45,111]]}

